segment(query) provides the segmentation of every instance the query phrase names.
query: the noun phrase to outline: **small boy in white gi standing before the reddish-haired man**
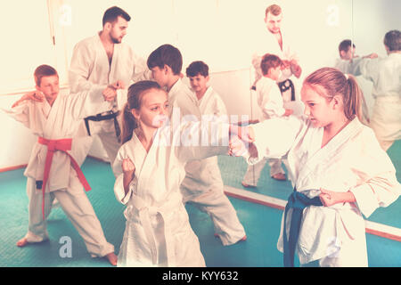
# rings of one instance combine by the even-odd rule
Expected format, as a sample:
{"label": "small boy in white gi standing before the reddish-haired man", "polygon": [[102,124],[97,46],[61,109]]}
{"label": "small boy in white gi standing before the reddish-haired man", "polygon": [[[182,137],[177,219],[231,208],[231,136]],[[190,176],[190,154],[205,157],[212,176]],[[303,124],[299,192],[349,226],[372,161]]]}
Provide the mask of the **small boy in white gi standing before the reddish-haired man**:
{"label": "small boy in white gi standing before the reddish-haired man", "polygon": [[[261,110],[261,118],[258,121],[264,121],[268,118],[280,118],[290,116],[291,109],[284,109],[282,94],[277,85],[277,80],[282,75],[282,61],[274,54],[266,53],[260,62],[263,77],[257,82],[258,106]],[[258,122],[257,121],[257,122]],[[285,180],[285,172],[282,169],[282,159],[262,159],[256,165],[248,166],[247,172],[243,177],[242,185],[244,187],[256,187],[262,169],[266,162],[269,162],[270,176],[276,180]]]}

